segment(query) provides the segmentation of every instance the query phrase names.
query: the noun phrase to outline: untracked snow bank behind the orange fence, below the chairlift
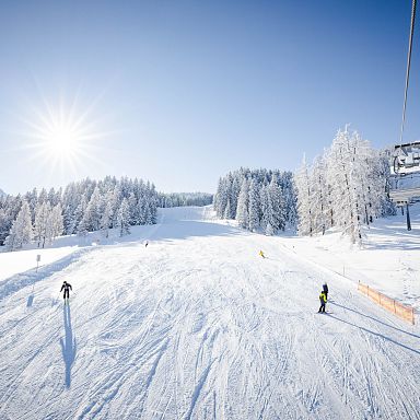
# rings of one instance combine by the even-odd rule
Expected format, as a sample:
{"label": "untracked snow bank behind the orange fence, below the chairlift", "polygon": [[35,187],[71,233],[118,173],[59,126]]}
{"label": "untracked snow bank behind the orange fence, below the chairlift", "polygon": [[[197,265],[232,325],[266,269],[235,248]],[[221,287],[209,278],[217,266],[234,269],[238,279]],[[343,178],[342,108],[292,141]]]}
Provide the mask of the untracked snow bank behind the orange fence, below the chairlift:
{"label": "untracked snow bank behind the orange fence, below the chairlift", "polygon": [[400,210],[396,217],[376,220],[364,229],[361,248],[340,233],[280,237],[279,242],[318,267],[369,284],[420,311],[420,203],[410,207],[410,218],[411,231]]}

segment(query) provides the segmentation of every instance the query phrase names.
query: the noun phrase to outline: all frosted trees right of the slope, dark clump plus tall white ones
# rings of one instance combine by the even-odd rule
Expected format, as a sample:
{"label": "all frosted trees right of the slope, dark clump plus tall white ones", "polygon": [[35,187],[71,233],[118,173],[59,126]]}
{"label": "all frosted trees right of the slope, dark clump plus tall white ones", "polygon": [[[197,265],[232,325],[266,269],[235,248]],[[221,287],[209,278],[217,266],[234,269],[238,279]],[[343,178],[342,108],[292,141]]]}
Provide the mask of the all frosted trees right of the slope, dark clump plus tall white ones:
{"label": "all frosted trees right of the slope, dark clump plus tall white ones", "polygon": [[388,198],[389,164],[357,131],[339,130],[329,149],[312,165],[292,174],[241,168],[221,177],[214,210],[241,228],[272,235],[287,225],[300,235],[337,228],[360,243],[361,226],[395,214]]}

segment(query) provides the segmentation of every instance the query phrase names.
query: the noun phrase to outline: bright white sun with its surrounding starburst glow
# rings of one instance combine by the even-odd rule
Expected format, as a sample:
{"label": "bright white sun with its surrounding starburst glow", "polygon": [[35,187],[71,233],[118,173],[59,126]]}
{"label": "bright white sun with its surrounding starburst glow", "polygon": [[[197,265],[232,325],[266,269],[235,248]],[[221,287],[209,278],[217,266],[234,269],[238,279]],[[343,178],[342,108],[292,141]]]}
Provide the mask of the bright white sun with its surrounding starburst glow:
{"label": "bright white sun with its surrounding starburst glow", "polygon": [[119,135],[109,129],[100,97],[86,101],[79,91],[69,97],[58,93],[54,100],[42,95],[28,100],[18,115],[18,149],[26,163],[49,182],[93,176],[109,166],[112,139]]}

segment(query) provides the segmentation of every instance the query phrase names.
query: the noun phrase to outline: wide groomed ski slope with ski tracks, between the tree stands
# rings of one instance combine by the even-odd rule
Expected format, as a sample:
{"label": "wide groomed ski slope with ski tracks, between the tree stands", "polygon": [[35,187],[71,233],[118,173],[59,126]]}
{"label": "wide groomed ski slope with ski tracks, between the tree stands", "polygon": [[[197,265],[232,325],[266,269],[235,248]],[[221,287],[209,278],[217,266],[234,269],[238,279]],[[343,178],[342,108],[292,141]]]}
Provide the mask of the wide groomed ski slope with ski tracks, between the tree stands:
{"label": "wide groomed ski slope with ski tracks, between the tree stands", "polygon": [[417,325],[209,214],[2,281],[0,419],[420,419]]}

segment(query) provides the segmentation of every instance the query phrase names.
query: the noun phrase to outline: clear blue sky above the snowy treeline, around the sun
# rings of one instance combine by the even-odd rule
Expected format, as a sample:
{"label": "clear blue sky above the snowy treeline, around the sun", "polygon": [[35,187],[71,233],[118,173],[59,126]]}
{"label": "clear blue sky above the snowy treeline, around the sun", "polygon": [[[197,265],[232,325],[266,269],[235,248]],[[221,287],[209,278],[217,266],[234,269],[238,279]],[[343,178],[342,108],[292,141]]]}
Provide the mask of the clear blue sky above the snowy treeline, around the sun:
{"label": "clear blue sky above the snowy treeline, around the sun", "polygon": [[[410,0],[3,0],[0,188],[127,175],[212,192],[241,166],[293,171],[348,122],[376,148],[398,143],[410,11]],[[418,40],[407,141],[420,137]],[[81,118],[71,160],[39,144],[57,115]]]}

